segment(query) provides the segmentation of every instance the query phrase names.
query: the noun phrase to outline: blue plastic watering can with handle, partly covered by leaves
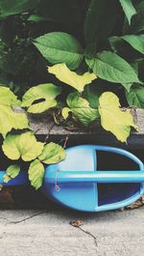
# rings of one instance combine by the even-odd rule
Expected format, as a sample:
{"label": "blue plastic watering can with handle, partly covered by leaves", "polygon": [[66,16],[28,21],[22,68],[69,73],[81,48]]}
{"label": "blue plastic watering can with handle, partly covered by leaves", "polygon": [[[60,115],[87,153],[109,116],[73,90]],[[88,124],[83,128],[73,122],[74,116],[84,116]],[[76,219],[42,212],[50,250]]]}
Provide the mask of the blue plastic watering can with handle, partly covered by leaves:
{"label": "blue plastic watering can with handle, partly covered by leaves", "polygon": [[[134,170],[99,170],[99,152],[125,156],[135,164]],[[101,158],[101,162],[106,161]],[[111,160],[110,160],[111,161]],[[125,163],[124,163],[125,164]],[[123,165],[123,162],[118,164]],[[106,164],[107,166],[107,164]],[[0,172],[3,184],[4,172]],[[8,185],[28,185],[27,171]],[[66,158],[46,166],[42,192],[51,200],[75,210],[101,212],[125,207],[144,193],[144,166],[131,153],[111,147],[83,145],[66,149]]]}

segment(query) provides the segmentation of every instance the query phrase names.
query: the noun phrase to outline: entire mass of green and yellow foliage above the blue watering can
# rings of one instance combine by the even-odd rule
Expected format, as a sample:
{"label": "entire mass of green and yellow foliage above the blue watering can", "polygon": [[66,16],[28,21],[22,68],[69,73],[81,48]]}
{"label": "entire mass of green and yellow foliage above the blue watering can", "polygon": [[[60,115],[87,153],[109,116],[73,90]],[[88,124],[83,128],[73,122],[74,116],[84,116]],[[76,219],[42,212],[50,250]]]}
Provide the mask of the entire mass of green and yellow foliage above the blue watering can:
{"label": "entire mass of green and yellow foliage above the blue watering can", "polygon": [[0,133],[12,159],[5,183],[26,161],[38,189],[45,164],[65,157],[60,145],[36,140],[27,112],[60,108],[63,123],[85,127],[98,119],[126,142],[137,127],[120,101],[144,107],[143,45],[143,0],[0,0]]}

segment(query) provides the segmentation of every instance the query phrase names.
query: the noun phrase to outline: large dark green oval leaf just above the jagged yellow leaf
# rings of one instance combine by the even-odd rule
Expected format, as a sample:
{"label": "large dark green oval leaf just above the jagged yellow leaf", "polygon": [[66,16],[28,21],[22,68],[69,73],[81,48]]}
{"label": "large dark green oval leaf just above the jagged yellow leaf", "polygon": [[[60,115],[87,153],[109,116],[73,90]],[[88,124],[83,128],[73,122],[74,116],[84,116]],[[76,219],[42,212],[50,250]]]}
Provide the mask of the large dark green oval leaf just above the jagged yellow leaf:
{"label": "large dark green oval leaf just above the jagged yellow leaf", "polygon": [[65,63],[71,70],[77,69],[84,57],[81,44],[67,33],[48,33],[37,38],[34,44],[51,64]]}

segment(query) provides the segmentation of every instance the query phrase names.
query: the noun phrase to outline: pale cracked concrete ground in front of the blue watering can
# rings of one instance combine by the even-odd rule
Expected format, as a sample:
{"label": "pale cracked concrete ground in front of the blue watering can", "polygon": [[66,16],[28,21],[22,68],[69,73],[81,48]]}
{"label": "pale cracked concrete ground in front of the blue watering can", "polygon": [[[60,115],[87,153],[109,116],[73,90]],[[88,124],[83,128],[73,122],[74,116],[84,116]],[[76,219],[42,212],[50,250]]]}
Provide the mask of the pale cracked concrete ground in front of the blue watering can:
{"label": "pale cracked concrete ground in front of the blue watering can", "polygon": [[[78,219],[80,227],[70,224]],[[143,240],[144,207],[107,213],[60,207],[0,211],[2,256],[142,256]]]}

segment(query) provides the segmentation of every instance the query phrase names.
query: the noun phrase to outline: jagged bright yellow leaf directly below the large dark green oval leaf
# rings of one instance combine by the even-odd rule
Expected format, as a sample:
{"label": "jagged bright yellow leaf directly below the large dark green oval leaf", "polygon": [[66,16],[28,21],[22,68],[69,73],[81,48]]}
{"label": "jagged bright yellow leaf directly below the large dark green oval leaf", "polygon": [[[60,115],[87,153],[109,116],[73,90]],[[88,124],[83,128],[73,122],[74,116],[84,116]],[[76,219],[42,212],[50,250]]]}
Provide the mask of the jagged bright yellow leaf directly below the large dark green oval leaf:
{"label": "jagged bright yellow leaf directly below the large dark green oval leaf", "polygon": [[55,74],[61,82],[72,86],[80,93],[84,91],[86,84],[97,78],[94,73],[84,72],[84,74],[77,74],[74,71],[70,71],[64,63],[49,67],[48,71]]}

